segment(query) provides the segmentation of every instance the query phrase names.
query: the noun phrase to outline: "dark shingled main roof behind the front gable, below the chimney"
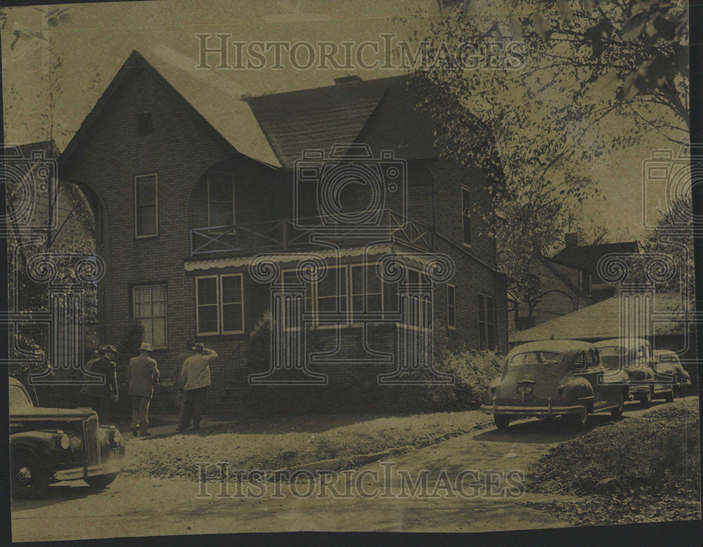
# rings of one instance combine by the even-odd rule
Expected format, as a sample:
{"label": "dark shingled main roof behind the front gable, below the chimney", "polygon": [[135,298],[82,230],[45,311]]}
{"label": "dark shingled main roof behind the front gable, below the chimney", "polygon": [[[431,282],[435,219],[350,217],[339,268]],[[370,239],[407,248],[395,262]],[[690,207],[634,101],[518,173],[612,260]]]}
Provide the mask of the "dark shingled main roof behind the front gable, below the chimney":
{"label": "dark shingled main roof behind the front gable, below the chimney", "polygon": [[[323,150],[326,155],[335,144],[358,140],[373,141],[373,148],[398,150],[409,138],[413,150],[399,156],[432,157],[436,154],[430,117],[413,110],[405,80],[404,76],[352,80],[246,100],[276,157],[288,169],[303,150]],[[362,135],[370,121],[380,116],[382,130],[370,129]]]}

